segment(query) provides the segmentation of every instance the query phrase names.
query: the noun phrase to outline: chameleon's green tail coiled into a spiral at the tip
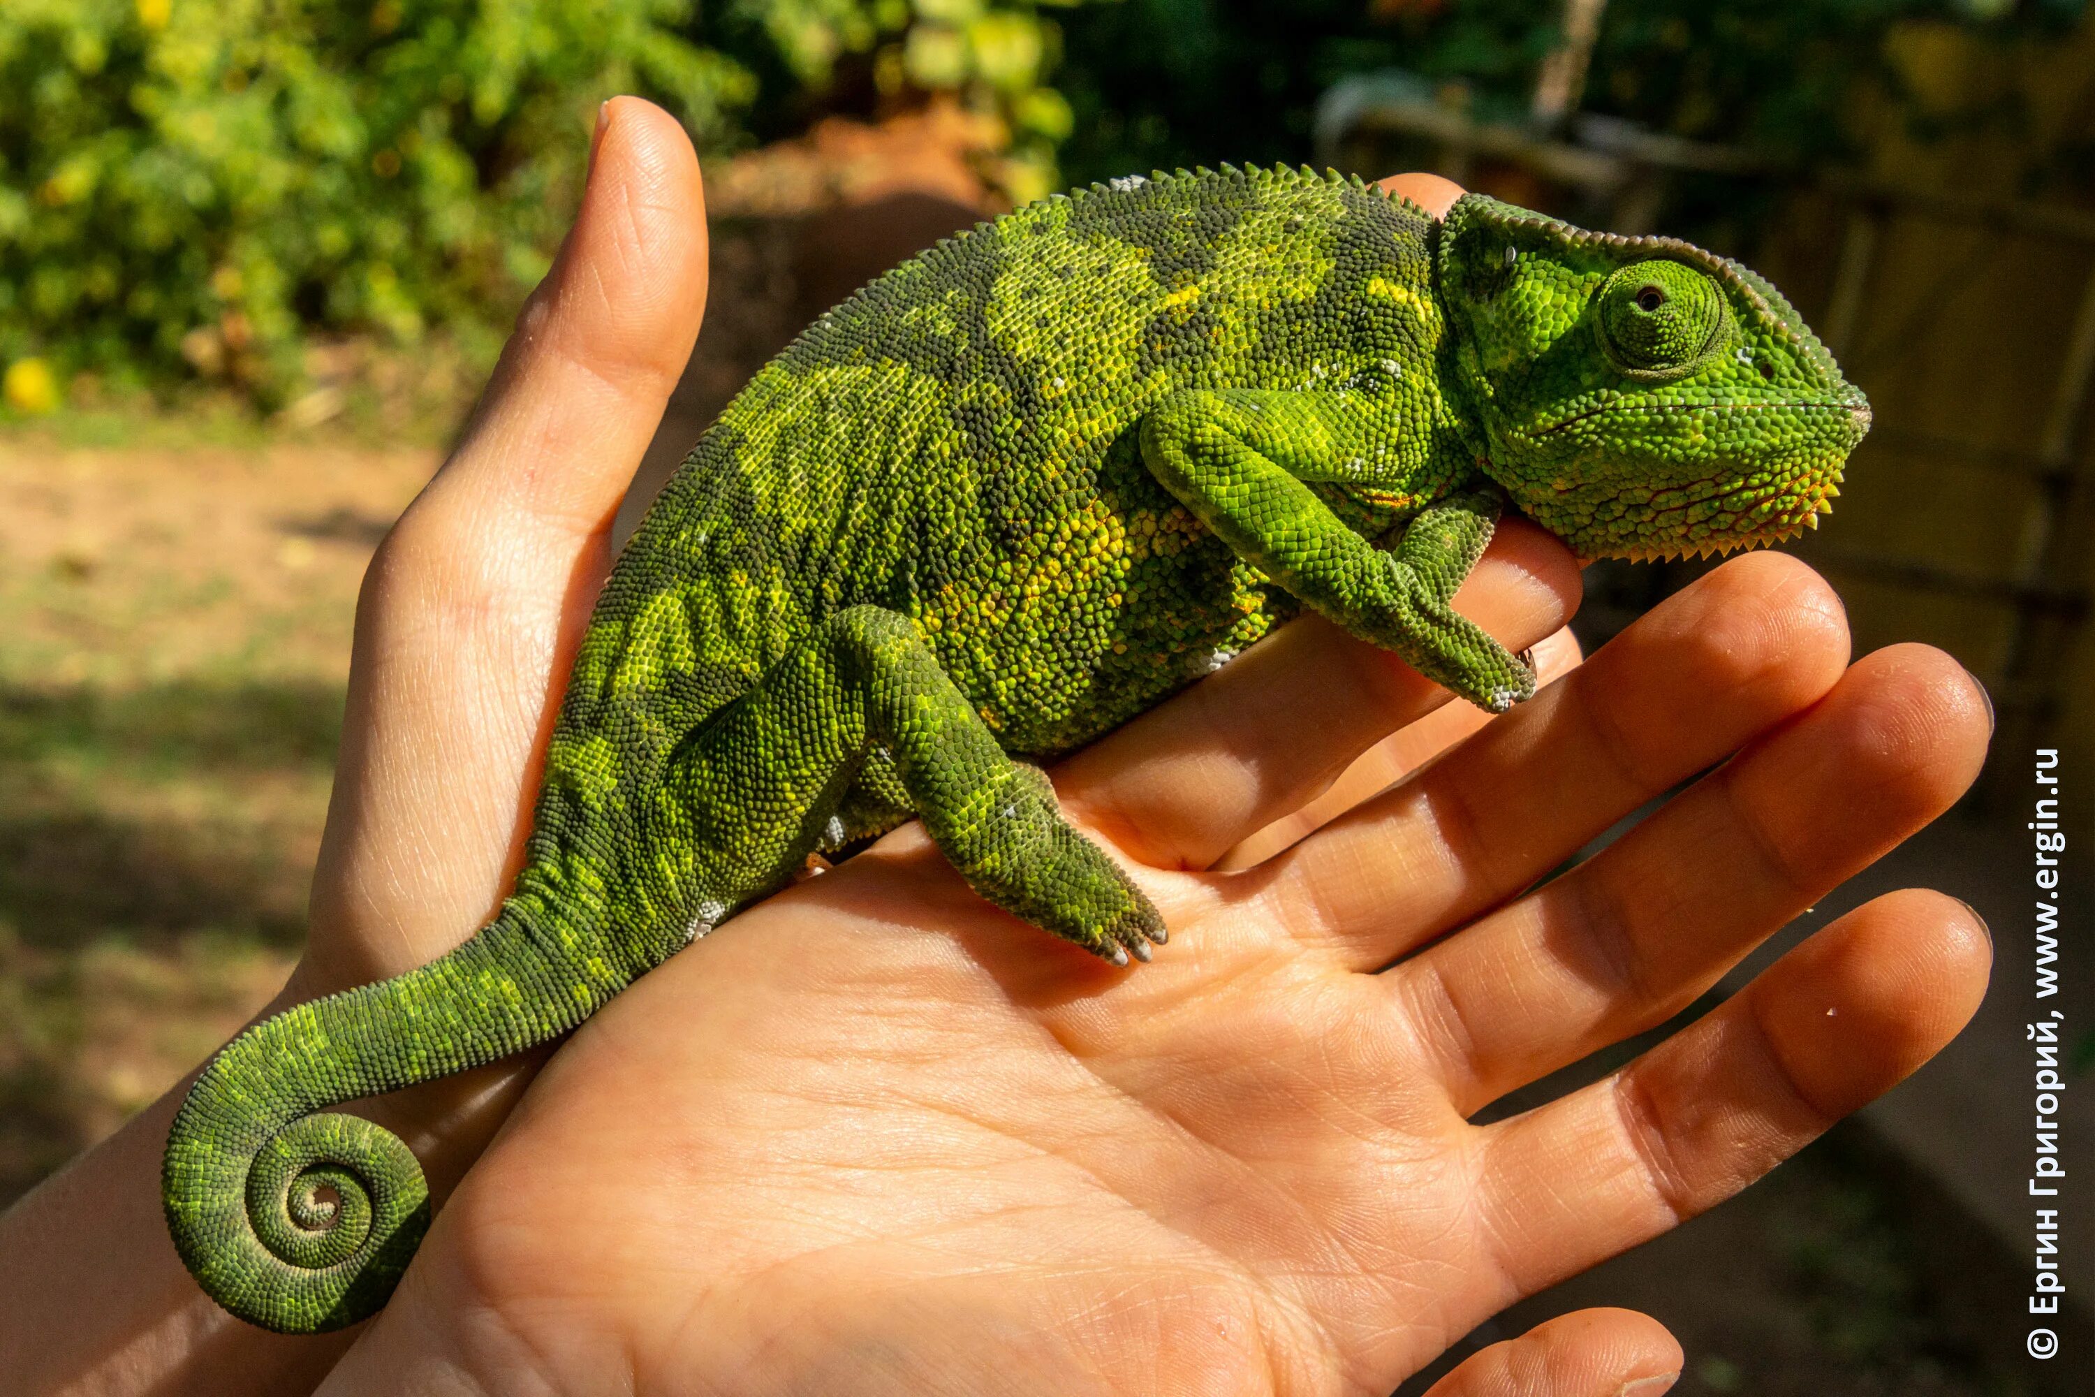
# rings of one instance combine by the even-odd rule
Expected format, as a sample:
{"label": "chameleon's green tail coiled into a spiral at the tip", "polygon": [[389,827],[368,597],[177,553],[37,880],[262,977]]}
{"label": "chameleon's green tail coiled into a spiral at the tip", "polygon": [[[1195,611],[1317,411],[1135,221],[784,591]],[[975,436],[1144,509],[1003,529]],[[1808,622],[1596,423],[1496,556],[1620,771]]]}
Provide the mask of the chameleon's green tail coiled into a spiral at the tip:
{"label": "chameleon's green tail coiled into a spiral at the tip", "polygon": [[511,901],[450,955],[266,1018],[212,1058],[168,1133],[161,1204],[214,1301],[283,1334],[385,1305],[429,1225],[421,1165],[362,1116],[314,1112],[545,1043],[637,974],[530,922]]}

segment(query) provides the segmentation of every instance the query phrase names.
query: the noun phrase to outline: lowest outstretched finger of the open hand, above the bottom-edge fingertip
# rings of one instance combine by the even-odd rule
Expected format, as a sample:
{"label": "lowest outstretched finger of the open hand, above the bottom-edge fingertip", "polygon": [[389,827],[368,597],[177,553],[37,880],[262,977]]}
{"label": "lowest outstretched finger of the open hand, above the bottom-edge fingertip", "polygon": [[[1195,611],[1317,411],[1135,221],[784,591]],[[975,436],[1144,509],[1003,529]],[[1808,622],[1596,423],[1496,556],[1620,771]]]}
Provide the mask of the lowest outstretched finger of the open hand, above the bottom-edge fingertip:
{"label": "lowest outstretched finger of the open hand, above the bottom-edge fingertip", "polygon": [[1990,966],[1969,907],[1890,892],[1619,1072],[1483,1127],[1496,1265],[1531,1294],[1730,1198],[1940,1051]]}

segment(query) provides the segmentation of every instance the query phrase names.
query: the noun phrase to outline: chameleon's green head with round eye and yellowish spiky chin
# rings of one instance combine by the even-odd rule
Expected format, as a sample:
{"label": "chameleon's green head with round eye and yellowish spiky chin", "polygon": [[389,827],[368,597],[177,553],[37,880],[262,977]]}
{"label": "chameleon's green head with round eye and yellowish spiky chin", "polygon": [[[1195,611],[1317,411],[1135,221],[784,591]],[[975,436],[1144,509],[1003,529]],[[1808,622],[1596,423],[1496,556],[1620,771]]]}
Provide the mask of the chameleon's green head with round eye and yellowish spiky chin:
{"label": "chameleon's green head with round eye and yellowish spiky chin", "polygon": [[1831,511],[1869,402],[1747,268],[1467,195],[1435,270],[1483,469],[1580,557],[1728,553]]}

